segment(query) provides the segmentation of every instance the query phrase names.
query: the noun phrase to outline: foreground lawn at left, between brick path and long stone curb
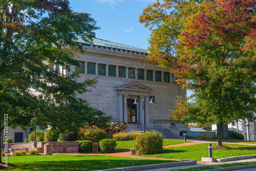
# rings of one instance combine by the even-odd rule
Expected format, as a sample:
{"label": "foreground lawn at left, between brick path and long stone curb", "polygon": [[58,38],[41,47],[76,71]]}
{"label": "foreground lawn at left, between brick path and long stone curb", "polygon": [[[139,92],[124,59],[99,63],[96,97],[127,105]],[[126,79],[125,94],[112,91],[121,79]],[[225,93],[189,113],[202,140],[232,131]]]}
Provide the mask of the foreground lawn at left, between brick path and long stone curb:
{"label": "foreground lawn at left, between brick path and long stone curb", "polygon": [[[3,160],[3,158],[2,158]],[[175,162],[112,156],[47,155],[9,157],[8,162],[18,165],[5,170],[97,170],[145,164]]]}

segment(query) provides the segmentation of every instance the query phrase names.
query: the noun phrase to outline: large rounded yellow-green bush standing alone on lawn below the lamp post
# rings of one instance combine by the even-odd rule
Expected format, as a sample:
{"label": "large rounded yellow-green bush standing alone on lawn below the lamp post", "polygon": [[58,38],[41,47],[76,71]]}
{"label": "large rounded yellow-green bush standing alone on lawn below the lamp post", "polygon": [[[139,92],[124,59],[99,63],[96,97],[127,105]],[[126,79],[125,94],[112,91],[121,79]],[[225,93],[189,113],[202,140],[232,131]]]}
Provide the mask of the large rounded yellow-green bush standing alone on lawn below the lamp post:
{"label": "large rounded yellow-green bush standing alone on lawn below the lamp post", "polygon": [[163,151],[162,134],[156,131],[145,132],[136,138],[135,151],[137,154],[156,154]]}

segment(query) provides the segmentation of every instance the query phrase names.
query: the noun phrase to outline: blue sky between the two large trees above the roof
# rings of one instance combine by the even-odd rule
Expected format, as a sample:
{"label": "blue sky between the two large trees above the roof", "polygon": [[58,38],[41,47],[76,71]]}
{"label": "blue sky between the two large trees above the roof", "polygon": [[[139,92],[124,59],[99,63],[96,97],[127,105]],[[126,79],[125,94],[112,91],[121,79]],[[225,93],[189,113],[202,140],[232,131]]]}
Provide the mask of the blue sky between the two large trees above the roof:
{"label": "blue sky between the two large trees above the roof", "polygon": [[96,38],[146,49],[150,31],[138,19],[156,0],[69,0],[75,12],[92,14],[100,30]]}

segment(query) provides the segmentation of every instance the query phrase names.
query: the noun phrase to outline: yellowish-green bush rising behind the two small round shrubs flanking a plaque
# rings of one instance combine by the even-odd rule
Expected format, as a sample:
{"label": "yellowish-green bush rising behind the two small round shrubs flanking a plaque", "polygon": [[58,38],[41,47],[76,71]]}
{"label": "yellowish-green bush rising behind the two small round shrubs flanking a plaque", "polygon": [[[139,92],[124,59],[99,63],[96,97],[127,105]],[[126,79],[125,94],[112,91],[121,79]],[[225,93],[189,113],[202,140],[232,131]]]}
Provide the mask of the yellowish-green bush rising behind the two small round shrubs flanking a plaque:
{"label": "yellowish-green bush rising behind the two small round shrubs flanking a plaque", "polygon": [[92,142],[99,142],[102,139],[109,138],[108,133],[101,129],[88,129],[84,131],[81,139],[90,140]]}

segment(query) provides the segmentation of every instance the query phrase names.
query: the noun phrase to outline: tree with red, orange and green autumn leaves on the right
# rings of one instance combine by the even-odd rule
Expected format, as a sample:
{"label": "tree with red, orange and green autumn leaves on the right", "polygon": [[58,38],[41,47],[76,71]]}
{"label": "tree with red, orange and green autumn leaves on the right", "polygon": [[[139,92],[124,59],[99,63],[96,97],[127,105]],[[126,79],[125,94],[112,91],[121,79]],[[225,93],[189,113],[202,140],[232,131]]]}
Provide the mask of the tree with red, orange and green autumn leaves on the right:
{"label": "tree with red, orange and green autumn leaves on the right", "polygon": [[179,97],[170,118],[223,125],[253,119],[255,105],[255,6],[251,0],[164,0],[144,9],[140,22],[152,29],[150,59],[172,73],[190,98]]}

